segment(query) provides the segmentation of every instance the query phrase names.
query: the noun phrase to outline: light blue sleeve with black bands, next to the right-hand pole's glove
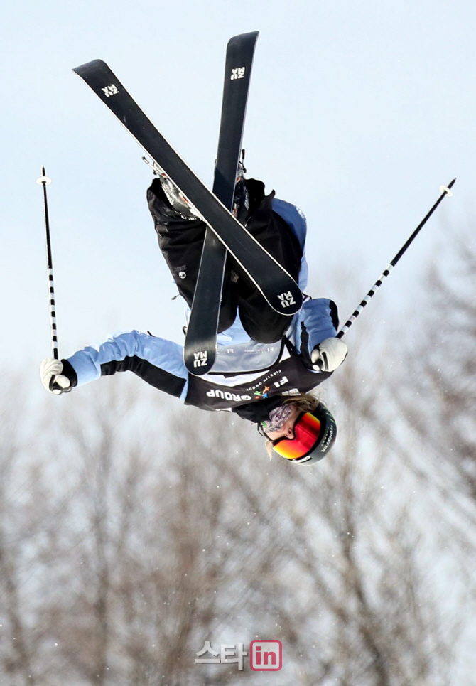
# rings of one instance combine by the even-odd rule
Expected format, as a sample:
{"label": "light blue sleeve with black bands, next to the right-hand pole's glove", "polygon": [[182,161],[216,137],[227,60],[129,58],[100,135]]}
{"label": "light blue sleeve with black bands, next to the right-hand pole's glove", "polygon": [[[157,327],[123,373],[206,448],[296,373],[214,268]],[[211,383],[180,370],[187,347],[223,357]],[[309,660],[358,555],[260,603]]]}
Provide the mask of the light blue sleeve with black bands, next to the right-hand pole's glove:
{"label": "light blue sleeve with black bands, next to the right-hand pole's glove", "polygon": [[332,300],[315,298],[305,301],[293,322],[293,343],[306,365],[312,366],[310,353],[325,338],[335,336],[338,326],[337,306]]}

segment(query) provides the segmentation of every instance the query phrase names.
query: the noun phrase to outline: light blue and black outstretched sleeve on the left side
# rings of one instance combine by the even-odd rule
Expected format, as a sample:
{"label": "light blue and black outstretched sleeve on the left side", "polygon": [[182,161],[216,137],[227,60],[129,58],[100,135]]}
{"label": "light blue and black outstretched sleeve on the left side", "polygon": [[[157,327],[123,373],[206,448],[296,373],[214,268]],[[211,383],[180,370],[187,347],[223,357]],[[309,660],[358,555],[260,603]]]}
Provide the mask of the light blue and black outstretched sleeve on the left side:
{"label": "light blue and black outstretched sleeve on the left side", "polygon": [[182,400],[187,395],[188,371],[182,346],[148,333],[120,333],[104,343],[78,350],[67,361],[75,370],[78,386],[129,370],[169,395]]}

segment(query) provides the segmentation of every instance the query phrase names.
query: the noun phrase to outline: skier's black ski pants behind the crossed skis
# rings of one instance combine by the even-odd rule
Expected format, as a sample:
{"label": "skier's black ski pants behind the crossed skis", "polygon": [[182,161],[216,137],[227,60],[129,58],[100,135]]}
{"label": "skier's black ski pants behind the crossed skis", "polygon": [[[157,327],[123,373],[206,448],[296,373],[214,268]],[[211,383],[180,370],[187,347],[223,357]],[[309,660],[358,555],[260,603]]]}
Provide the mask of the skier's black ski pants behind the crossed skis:
{"label": "skier's black ski pants behind the crossed skis", "polygon": [[[272,210],[274,191],[264,195],[264,183],[247,179],[249,216],[247,230],[298,281],[302,250],[291,228]],[[192,306],[197,283],[206,225],[202,220],[184,219],[174,210],[163,193],[161,182],[154,179],[147,191],[158,245],[177,285],[180,295]],[[259,343],[275,343],[286,332],[291,318],[272,309],[236,260],[227,254],[220,305],[218,331],[232,326],[237,311],[244,330]],[[207,316],[207,313],[202,313]]]}

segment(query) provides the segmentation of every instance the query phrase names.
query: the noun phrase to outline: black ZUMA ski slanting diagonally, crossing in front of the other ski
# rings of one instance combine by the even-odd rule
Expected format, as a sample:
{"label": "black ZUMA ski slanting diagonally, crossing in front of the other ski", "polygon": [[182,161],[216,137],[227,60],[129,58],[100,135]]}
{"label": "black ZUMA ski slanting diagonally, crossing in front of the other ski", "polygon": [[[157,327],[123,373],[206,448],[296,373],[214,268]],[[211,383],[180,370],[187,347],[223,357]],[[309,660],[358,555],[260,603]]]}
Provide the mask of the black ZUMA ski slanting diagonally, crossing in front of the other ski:
{"label": "black ZUMA ski slanting diagonally, crossing in front of the other ski", "polygon": [[73,71],[107,104],[119,122],[124,124],[139,145],[180,188],[205,223],[249,274],[269,305],[286,315],[296,313],[301,307],[302,295],[290,274],[259,245],[193,173],[153,126],[107,64],[102,60],[93,60]]}

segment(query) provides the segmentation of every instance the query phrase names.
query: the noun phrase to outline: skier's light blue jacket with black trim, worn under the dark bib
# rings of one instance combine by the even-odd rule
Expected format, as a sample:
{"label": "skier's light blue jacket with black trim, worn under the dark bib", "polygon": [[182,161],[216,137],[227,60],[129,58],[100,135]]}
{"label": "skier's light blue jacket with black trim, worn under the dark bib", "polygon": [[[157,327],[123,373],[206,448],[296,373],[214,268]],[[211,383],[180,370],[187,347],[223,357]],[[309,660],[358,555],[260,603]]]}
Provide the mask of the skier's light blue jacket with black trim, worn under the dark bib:
{"label": "skier's light blue jacket with black trim, worn under the dark bib", "polygon": [[[298,283],[301,291],[308,282],[308,264],[305,259],[306,221],[301,210],[284,200],[273,200],[273,209],[288,223],[303,248]],[[293,316],[286,338],[296,353],[301,353],[304,363],[310,367],[310,353],[325,338],[336,335],[333,323],[337,317],[335,304],[328,299],[307,299],[301,310]],[[230,353],[230,350],[233,350]],[[251,341],[244,331],[239,316],[234,324],[217,336],[217,360],[212,373],[200,377],[216,386],[233,387],[264,375],[281,360],[289,357],[281,341],[264,345]],[[101,375],[117,371],[133,370],[147,382],[180,397],[185,401],[188,394],[189,375],[183,363],[183,346],[164,338],[139,331],[119,333],[97,346],[88,345],[67,360],[77,375],[77,385],[84,385]],[[316,375],[315,385],[323,380]],[[229,376],[232,374],[232,376]],[[327,377],[327,375],[326,375]]]}

